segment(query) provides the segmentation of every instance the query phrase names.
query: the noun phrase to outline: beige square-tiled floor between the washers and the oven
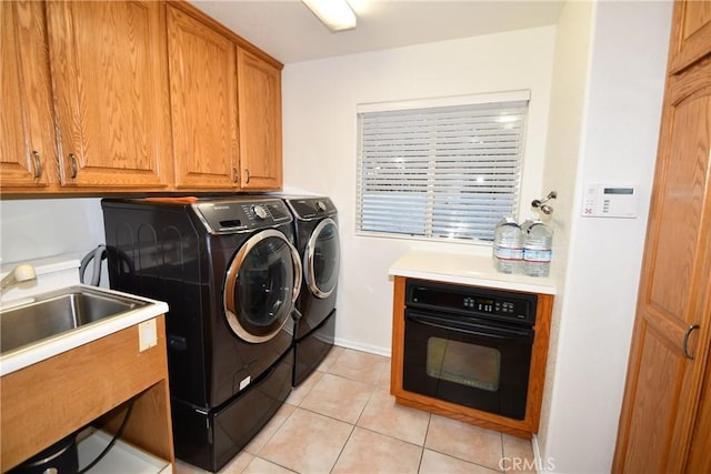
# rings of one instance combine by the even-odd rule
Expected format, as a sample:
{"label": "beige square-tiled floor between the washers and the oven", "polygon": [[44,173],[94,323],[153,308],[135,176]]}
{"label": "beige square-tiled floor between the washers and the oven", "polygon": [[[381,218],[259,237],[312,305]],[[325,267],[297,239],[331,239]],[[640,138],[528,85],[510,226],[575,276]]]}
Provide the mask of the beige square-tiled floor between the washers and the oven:
{"label": "beige square-tiled floor between the washers and the oven", "polygon": [[[334,346],[221,473],[491,474],[532,467],[529,441],[398,405],[389,392],[390,359]],[[201,472],[181,462],[176,471]]]}

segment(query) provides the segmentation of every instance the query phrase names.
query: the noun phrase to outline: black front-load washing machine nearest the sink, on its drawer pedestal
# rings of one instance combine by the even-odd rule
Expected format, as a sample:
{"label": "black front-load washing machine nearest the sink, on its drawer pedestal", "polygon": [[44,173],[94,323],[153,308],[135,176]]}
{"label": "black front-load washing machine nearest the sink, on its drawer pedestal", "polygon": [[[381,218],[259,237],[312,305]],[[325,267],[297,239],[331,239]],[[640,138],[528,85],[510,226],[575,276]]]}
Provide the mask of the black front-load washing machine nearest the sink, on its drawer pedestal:
{"label": "black front-load washing machine nearest the sink, on its drawer pedestal", "polygon": [[217,472],[292,385],[301,286],[279,199],[102,200],[111,288],[166,301],[176,456]]}

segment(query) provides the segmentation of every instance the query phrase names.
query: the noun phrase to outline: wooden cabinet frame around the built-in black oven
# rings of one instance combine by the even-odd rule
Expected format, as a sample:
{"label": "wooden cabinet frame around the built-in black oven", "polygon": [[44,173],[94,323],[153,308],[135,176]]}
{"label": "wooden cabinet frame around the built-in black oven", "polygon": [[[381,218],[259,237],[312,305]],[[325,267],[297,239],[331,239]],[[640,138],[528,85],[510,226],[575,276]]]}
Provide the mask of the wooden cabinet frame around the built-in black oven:
{"label": "wooden cabinet frame around the built-in black oven", "polygon": [[533,434],[538,433],[543,399],[545,363],[548,360],[551,314],[553,311],[553,295],[538,294],[535,325],[533,326],[535,335],[529,370],[525,416],[523,420],[513,420],[408,392],[403,389],[405,284],[407,278],[394,278],[390,393],[394,395],[395,402],[519,437],[531,438]]}

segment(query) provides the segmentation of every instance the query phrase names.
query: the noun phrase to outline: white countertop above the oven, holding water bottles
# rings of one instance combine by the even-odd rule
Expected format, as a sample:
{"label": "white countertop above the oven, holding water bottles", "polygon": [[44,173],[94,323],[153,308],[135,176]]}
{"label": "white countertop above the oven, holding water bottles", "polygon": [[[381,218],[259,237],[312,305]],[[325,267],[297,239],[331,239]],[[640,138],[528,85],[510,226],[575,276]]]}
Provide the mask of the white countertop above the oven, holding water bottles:
{"label": "white countertop above the oven, holding water bottles", "polygon": [[539,294],[555,294],[551,278],[499,273],[490,255],[413,250],[390,266],[390,275],[513,290]]}

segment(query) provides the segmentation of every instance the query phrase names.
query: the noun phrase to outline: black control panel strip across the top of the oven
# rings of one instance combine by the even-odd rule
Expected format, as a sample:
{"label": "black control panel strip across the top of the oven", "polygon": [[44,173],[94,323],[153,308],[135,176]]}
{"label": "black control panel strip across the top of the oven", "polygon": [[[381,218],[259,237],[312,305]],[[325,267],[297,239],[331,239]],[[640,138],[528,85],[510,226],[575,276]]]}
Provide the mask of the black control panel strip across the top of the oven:
{"label": "black control panel strip across the top of the oven", "polygon": [[480,286],[408,280],[405,305],[503,321],[535,323],[538,296]]}

